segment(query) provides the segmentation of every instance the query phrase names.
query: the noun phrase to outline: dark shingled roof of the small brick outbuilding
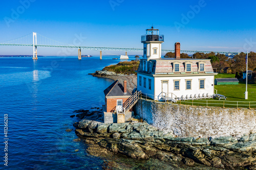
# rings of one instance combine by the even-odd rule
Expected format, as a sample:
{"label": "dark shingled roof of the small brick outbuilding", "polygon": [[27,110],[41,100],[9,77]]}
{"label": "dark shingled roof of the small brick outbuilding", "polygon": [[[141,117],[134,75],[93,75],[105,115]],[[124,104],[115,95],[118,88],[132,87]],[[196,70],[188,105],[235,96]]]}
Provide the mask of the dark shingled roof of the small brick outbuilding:
{"label": "dark shingled roof of the small brick outbuilding", "polygon": [[122,96],[122,95],[132,95],[132,93],[126,90],[126,94],[123,93],[123,85],[116,80],[108,88],[104,90],[105,96]]}

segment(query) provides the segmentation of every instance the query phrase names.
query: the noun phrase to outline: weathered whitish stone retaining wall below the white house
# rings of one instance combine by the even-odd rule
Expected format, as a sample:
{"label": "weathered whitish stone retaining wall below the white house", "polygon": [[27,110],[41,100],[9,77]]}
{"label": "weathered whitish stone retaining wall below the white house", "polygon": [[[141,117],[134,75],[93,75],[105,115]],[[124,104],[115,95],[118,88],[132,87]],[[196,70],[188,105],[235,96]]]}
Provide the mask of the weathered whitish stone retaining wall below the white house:
{"label": "weathered whitish stone retaining wall below the white house", "polygon": [[163,104],[141,99],[135,112],[148,124],[181,137],[239,137],[256,133],[254,109]]}

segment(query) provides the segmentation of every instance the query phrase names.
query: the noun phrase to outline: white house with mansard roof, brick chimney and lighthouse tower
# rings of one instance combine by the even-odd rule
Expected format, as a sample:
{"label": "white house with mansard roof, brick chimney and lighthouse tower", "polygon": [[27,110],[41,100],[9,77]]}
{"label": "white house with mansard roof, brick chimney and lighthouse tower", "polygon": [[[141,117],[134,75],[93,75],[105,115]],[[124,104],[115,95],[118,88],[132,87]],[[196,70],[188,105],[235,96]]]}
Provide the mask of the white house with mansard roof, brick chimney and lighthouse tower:
{"label": "white house with mansard roof, brick chimney and lighthouse tower", "polygon": [[217,73],[209,59],[181,59],[179,42],[175,43],[175,58],[161,58],[164,36],[153,27],[141,36],[141,42],[144,55],[137,71],[137,90],[158,101],[212,97]]}

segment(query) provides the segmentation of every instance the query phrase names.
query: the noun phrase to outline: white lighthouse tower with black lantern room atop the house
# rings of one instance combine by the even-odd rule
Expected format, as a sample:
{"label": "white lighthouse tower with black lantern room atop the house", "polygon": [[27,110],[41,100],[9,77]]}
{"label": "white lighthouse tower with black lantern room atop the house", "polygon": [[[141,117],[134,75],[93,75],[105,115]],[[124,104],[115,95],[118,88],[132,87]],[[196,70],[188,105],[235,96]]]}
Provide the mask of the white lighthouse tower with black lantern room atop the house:
{"label": "white lighthouse tower with black lantern room atop the house", "polygon": [[151,29],[146,30],[146,35],[141,36],[141,42],[143,43],[143,60],[160,59],[162,43],[164,42],[164,36],[159,35],[159,30]]}

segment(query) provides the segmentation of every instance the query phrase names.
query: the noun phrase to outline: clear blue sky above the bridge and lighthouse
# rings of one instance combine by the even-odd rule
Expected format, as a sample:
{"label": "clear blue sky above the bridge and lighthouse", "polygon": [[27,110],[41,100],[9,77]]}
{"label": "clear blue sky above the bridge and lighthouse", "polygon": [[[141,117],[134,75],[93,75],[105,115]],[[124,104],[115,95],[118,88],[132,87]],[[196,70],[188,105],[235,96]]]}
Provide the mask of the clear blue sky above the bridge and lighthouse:
{"label": "clear blue sky above the bridge and lighthouse", "polygon": [[[180,42],[181,50],[256,52],[255,6],[253,0],[1,1],[0,43],[36,32],[70,45],[142,48],[140,37],[153,25],[164,35],[162,49],[174,50]],[[77,56],[78,50],[38,47],[37,53]],[[125,52],[103,51],[110,54]],[[0,46],[0,55],[33,55],[33,49]],[[82,55],[99,52],[82,50]]]}

